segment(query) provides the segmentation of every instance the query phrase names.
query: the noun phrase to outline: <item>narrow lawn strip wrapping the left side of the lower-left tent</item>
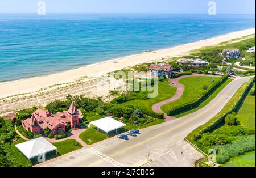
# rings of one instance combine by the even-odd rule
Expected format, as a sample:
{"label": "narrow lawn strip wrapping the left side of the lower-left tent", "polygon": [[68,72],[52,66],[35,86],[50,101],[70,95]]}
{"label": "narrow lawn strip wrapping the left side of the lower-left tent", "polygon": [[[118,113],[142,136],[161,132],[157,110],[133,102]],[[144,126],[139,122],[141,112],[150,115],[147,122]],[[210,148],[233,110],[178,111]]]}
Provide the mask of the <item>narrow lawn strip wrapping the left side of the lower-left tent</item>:
{"label": "narrow lawn strip wrapping the left side of the lower-left tent", "polygon": [[22,166],[26,166],[26,167],[32,166],[32,164],[30,162],[28,162],[28,159],[26,158],[26,156],[24,156],[19,151],[19,149],[17,149],[15,146],[22,142],[26,142],[26,141],[22,138],[19,138],[18,142],[11,143],[11,152],[12,152],[13,156],[18,160],[19,164],[21,164]]}

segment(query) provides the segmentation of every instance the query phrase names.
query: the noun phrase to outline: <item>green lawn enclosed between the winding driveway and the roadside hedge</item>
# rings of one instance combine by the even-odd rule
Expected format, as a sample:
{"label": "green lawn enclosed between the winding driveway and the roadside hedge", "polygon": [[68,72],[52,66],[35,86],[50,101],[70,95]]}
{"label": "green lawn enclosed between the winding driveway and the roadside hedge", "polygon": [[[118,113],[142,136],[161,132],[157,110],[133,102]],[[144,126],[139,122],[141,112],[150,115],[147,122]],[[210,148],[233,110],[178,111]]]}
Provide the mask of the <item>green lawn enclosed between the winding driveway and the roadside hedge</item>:
{"label": "green lawn enclosed between the winding driveway and the roadside hedge", "polygon": [[[211,79],[214,79],[214,82],[211,82]],[[162,111],[168,113],[172,107],[181,107],[195,99],[199,99],[200,96],[208,92],[218,80],[220,80],[218,77],[187,77],[180,79],[179,83],[184,85],[183,95],[174,102],[162,105]],[[204,90],[203,86],[208,86],[207,90]]]}

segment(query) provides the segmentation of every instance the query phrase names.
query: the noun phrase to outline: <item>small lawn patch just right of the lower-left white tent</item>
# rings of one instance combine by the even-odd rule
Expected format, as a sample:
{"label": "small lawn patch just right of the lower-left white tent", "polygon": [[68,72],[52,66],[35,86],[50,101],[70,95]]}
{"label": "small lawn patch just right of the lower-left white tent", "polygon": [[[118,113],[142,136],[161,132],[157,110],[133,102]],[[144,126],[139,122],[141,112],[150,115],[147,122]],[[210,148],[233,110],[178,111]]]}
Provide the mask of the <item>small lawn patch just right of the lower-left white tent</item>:
{"label": "small lawn patch just right of the lower-left white tent", "polygon": [[65,141],[52,143],[52,145],[57,147],[57,152],[60,155],[67,154],[68,152],[72,152],[82,148],[79,142],[75,139],[67,139]]}

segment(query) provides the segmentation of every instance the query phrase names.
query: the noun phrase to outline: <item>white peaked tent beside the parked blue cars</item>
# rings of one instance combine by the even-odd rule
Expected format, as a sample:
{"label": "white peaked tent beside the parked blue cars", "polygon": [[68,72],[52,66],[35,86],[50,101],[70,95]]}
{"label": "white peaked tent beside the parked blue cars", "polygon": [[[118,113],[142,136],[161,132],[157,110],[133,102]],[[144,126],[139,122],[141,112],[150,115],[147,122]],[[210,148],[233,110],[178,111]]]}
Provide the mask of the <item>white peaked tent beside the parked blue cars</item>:
{"label": "white peaked tent beside the parked blue cars", "polygon": [[119,122],[112,117],[101,118],[99,120],[92,121],[90,123],[92,125],[95,125],[98,129],[103,130],[106,133],[126,126],[126,124],[123,124],[122,122]]}

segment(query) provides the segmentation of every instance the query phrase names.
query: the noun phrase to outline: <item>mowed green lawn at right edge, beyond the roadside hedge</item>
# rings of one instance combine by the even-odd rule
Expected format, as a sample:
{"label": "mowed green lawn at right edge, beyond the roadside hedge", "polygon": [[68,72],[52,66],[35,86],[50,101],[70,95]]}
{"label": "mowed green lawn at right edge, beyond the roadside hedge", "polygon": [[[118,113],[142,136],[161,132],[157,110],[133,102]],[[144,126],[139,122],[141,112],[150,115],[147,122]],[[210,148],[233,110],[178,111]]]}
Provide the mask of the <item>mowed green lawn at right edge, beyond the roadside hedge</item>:
{"label": "mowed green lawn at right edge, beyond the roadside hedge", "polygon": [[[253,87],[255,88],[255,83]],[[247,95],[236,117],[242,126],[255,129],[255,96]]]}

